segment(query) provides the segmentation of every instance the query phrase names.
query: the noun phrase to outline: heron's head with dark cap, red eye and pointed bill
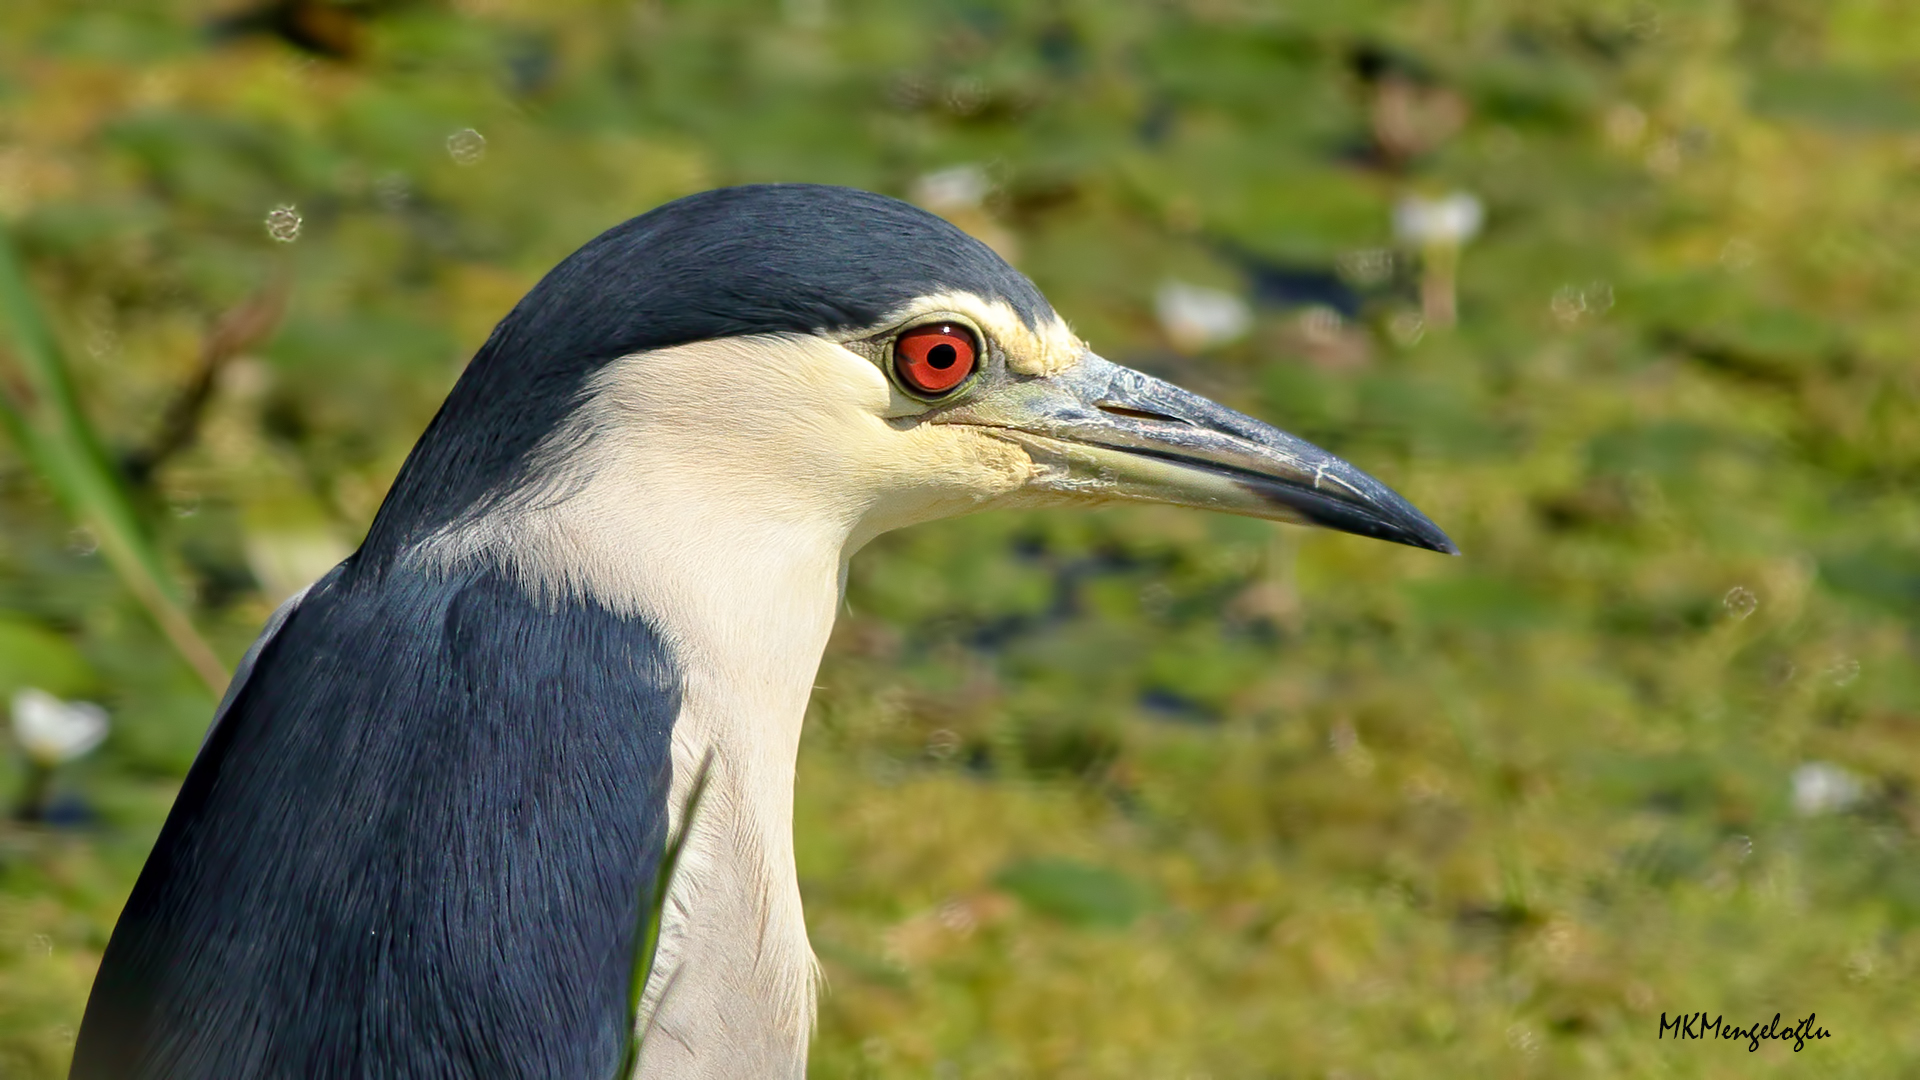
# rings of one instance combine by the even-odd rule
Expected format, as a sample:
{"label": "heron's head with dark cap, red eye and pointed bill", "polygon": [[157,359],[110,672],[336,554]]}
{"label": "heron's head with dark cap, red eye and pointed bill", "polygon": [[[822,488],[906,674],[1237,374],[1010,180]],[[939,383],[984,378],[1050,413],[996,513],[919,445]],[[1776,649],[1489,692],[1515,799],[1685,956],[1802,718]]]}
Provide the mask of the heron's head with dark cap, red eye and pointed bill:
{"label": "heron's head with dark cap, red eye and pointed bill", "polygon": [[851,552],[993,505],[1160,502],[1453,552],[1357,467],[1100,357],[985,244],[851,188],[724,188],[609,231],[442,421],[396,482],[453,507],[440,527],[593,488],[695,507],[687,536],[799,525]]}

